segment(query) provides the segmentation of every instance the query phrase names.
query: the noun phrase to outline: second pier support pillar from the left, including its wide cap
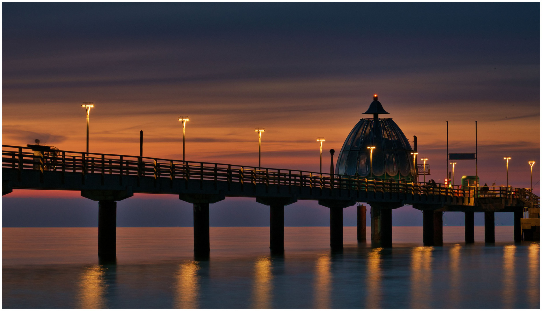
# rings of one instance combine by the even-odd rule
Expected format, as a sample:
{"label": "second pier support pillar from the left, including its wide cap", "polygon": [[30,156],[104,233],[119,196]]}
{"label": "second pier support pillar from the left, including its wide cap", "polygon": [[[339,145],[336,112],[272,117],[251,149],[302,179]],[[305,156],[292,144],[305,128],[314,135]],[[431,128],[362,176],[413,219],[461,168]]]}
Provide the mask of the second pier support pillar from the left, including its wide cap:
{"label": "second pier support pillar from the left, including its wide cap", "polygon": [[209,204],[224,200],[221,194],[179,194],[179,200],[193,204],[194,255],[200,260],[210,254]]}

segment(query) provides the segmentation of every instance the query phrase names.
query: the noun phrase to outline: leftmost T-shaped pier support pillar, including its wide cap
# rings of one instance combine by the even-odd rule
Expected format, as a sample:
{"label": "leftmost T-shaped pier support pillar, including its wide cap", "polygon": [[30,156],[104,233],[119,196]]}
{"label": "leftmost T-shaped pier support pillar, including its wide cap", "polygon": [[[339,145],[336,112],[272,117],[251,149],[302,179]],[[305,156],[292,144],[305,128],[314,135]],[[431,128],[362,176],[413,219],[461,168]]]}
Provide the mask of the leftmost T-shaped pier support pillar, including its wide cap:
{"label": "leftmost T-shaped pier support pillar, including its wide cap", "polygon": [[81,196],[98,201],[98,257],[114,263],[117,256],[117,201],[133,196],[126,190],[81,190]]}

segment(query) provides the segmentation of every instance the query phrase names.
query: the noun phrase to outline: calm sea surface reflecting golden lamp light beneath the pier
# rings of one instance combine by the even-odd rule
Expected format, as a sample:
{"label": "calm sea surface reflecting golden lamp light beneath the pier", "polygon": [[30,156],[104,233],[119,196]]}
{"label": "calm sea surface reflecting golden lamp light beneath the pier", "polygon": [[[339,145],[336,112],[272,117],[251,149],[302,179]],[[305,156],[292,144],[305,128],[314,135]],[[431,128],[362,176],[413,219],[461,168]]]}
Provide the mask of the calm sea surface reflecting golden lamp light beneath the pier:
{"label": "calm sea surface reflecting golden lamp light beneath the pier", "polygon": [[118,228],[117,264],[102,265],[97,228],[3,228],[2,308],[539,309],[540,243],[499,226],[496,243],[466,245],[463,230],[423,247],[421,227],[393,227],[382,249],[345,227],[332,254],[329,228],[286,227],[285,255],[270,256],[269,228],[211,228],[197,261],[192,228]]}

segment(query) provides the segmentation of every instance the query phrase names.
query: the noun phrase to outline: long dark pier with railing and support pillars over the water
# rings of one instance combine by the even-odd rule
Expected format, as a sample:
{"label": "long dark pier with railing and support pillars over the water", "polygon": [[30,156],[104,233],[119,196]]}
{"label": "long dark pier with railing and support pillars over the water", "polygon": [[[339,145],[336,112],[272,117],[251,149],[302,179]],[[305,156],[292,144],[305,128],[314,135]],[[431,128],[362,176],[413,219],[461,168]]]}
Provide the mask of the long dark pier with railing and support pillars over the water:
{"label": "long dark pier with railing and support pillars over the water", "polygon": [[[47,147],[44,147],[47,148]],[[495,241],[494,213],[514,213],[514,241],[539,239],[532,226],[540,198],[524,188],[461,187],[311,171],[259,168],[142,156],[55,151],[34,155],[28,147],[2,145],[2,195],[13,189],[73,190],[98,201],[98,254],[116,254],[117,201],[134,193],[177,194],[193,204],[194,252],[209,255],[209,206],[226,197],[254,197],[269,206],[269,248],[284,250],[284,209],[314,200],[330,209],[330,246],[343,248],[343,208],[371,205],[371,242],[391,247],[391,210],[405,205],[423,211],[423,243],[442,245],[442,213],[462,211],[465,242],[474,242],[474,213],[485,214],[485,241]],[[528,215],[527,215],[528,214]],[[524,217],[522,217],[524,216]],[[526,216],[526,217],[525,217]],[[358,240],[366,239],[365,207],[358,206]],[[527,228],[529,227],[529,228]],[[534,228],[534,231],[533,231]],[[539,228],[539,227],[538,227]],[[539,230],[539,229],[538,229]]]}

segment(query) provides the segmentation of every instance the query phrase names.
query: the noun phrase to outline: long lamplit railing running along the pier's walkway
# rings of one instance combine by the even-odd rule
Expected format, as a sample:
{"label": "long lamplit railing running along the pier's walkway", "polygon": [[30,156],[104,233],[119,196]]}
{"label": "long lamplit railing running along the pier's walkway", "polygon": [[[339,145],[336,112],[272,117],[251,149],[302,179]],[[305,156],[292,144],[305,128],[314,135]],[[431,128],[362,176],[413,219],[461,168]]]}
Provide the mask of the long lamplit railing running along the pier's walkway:
{"label": "long lamplit railing running along the pier's walkway", "polygon": [[[380,180],[364,176],[320,174],[311,171],[236,166],[233,164],[170,160],[117,154],[85,153],[78,151],[51,150],[35,155],[28,147],[2,145],[2,168],[22,170],[59,171],[62,180],[65,173],[131,175],[138,177],[182,178],[188,180],[215,181],[242,184],[286,185],[320,189],[347,189],[382,193],[410,193],[446,195],[456,197],[521,197],[529,199],[532,193],[521,188],[462,187],[460,185],[431,184],[406,180]],[[48,155],[49,154],[49,155]],[[52,156],[51,156],[52,154]],[[528,192],[528,193],[527,193]]]}

